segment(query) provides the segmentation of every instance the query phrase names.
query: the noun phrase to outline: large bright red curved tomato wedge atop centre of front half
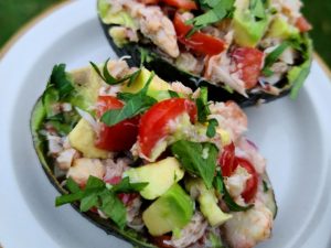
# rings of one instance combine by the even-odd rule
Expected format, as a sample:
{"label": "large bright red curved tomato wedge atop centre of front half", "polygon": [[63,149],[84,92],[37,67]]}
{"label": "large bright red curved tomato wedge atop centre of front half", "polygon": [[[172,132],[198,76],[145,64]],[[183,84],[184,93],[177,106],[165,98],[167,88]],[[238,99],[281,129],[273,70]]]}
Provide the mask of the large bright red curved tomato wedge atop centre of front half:
{"label": "large bright red curved tomato wedge atop centre of front half", "polygon": [[192,100],[171,98],[152,106],[140,119],[138,142],[141,152],[149,158],[156,143],[168,134],[169,121],[188,112],[196,119],[196,106]]}

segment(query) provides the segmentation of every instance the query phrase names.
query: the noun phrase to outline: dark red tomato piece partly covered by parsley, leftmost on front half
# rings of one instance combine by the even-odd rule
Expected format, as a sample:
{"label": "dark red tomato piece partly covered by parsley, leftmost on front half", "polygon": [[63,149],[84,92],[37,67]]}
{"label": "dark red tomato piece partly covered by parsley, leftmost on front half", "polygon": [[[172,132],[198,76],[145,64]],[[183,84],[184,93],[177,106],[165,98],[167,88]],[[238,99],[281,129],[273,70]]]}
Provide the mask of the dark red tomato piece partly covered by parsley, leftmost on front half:
{"label": "dark red tomato piece partly covered by parsley, leftmost on front half", "polygon": [[[120,109],[124,104],[116,97],[99,96],[97,116],[110,109]],[[137,141],[139,117],[124,120],[113,127],[100,125],[100,131],[95,145],[108,151],[129,150]]]}

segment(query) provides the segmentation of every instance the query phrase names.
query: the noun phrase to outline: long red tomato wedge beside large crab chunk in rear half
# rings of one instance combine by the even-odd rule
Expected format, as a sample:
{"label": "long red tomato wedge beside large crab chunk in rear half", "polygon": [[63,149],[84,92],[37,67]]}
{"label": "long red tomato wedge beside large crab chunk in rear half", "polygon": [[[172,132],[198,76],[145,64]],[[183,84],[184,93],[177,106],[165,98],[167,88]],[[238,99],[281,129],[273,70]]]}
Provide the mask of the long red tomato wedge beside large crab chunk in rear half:
{"label": "long red tomato wedge beside large crab chunk in rear half", "polygon": [[186,25],[179,13],[175,13],[173,24],[179,42],[199,54],[212,56],[220,54],[225,50],[225,42],[223,40],[204,34],[200,31],[195,32],[190,37],[185,37],[193,26]]}

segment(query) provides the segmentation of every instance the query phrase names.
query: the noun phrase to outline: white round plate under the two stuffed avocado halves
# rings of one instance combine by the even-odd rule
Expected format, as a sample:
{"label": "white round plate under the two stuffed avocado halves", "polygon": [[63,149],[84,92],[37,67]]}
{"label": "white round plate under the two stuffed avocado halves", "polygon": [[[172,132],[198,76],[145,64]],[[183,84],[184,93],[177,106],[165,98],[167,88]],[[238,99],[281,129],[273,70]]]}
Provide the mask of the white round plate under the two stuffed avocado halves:
{"label": "white round plate under the two stuffed avocado halves", "polygon": [[[114,57],[95,1],[74,1],[34,25],[0,62],[0,242],[17,247],[130,247],[107,236],[57,195],[34,153],[33,104],[52,66],[86,66]],[[279,206],[273,238],[260,248],[325,248],[331,233],[331,85],[318,63],[299,98],[247,109],[248,137],[268,160]]]}

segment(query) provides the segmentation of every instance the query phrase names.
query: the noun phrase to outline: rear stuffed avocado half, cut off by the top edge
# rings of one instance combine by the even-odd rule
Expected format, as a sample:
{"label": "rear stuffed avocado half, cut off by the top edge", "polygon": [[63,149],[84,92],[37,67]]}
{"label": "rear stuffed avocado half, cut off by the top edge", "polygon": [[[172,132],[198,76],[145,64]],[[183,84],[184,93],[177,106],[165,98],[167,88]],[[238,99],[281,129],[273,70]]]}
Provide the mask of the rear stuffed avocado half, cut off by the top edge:
{"label": "rear stuffed avocado half, cut off by the top edge", "polygon": [[300,8],[299,0],[98,0],[119,56],[243,107],[295,98],[309,75],[311,26]]}

